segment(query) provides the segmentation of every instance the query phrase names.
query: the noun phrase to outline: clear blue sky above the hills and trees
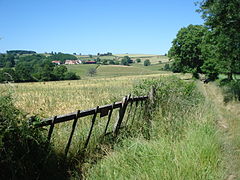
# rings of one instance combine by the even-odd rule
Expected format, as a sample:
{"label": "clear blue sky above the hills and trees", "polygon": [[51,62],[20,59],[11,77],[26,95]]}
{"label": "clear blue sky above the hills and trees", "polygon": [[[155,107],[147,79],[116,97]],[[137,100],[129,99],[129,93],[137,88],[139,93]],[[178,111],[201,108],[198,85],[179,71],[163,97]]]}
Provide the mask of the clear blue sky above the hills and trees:
{"label": "clear blue sky above the hills and trees", "polygon": [[0,0],[0,52],[165,54],[196,0]]}

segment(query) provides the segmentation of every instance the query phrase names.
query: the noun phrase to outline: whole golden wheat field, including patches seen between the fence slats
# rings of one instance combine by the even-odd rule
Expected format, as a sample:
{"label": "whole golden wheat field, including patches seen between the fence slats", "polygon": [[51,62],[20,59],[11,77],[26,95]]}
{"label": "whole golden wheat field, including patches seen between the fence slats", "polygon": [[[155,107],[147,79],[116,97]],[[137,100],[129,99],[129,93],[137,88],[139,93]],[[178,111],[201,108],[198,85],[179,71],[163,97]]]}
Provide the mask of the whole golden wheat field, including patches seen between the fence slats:
{"label": "whole golden wheat field, including patches seen between the fence slats", "polygon": [[[11,93],[16,107],[29,116],[38,115],[44,118],[120,101],[124,96],[131,93],[132,87],[140,80],[160,76],[169,76],[169,73],[90,78],[76,81],[1,84],[0,90],[1,93]],[[113,116],[116,116],[116,114],[117,112]],[[81,118],[78,121],[70,153],[77,153],[81,149],[79,146],[83,145],[87,137],[90,122],[91,117]],[[97,120],[89,144],[90,149],[98,141],[105,124],[106,119]],[[66,122],[57,124],[54,128],[52,141],[55,149],[59,152],[64,152],[71,127],[72,123]]]}

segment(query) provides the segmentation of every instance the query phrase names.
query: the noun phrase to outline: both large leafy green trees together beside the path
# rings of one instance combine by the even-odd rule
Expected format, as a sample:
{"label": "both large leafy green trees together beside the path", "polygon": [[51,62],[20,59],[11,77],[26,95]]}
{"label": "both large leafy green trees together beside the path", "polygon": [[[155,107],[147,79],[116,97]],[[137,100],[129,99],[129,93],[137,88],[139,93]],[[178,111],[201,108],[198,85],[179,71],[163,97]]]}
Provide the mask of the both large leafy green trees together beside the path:
{"label": "both large leafy green trees together beside the path", "polygon": [[206,74],[210,80],[226,74],[232,80],[240,74],[240,1],[203,0],[198,2],[203,25],[181,28],[168,56],[173,72]]}

